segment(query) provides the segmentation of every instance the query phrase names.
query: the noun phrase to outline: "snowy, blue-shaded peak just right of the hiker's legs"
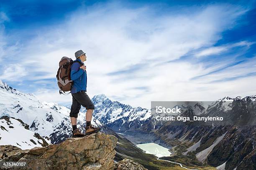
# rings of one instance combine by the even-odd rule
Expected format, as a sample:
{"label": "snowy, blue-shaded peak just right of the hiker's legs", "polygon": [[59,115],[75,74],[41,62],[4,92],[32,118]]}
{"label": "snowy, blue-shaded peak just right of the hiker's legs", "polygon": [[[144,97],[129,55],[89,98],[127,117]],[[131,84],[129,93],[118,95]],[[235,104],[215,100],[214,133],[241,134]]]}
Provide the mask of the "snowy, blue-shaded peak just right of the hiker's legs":
{"label": "snowy, blue-shaded peak just right of the hiker's legs", "polygon": [[[141,107],[132,107],[118,101],[111,101],[106,95],[95,95],[92,98],[95,105],[93,116],[103,125],[111,128],[115,132],[124,132],[131,128],[138,128],[151,117],[148,109]],[[71,106],[67,106],[70,108]],[[84,107],[80,112],[86,112]]]}

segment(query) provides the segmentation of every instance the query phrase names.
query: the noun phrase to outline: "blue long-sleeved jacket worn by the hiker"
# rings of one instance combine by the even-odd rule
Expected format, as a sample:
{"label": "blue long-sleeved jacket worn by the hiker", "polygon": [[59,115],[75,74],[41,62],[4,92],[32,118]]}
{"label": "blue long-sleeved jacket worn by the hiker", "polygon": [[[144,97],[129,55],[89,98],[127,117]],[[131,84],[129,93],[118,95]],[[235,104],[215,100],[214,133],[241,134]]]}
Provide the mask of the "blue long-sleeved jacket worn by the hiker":
{"label": "blue long-sleeved jacket worn by the hiker", "polygon": [[87,87],[86,70],[83,70],[82,68],[80,68],[79,62],[75,62],[75,61],[82,62],[81,60],[77,59],[77,60],[74,60],[74,63],[71,65],[70,77],[71,77],[71,80],[73,80],[74,82],[73,87],[71,89],[71,93],[76,93],[81,90],[86,91],[86,87]]}

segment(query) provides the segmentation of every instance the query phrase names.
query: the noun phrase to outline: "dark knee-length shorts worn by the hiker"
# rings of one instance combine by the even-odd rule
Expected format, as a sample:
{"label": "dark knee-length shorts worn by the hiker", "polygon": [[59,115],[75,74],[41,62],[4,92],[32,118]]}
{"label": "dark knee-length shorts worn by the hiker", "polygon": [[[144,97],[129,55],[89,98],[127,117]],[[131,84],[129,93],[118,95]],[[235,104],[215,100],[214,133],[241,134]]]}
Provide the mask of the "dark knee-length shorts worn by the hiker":
{"label": "dark knee-length shorts worn by the hiker", "polygon": [[94,104],[90,97],[86,94],[85,91],[80,91],[77,93],[71,93],[72,95],[72,106],[69,113],[70,117],[77,117],[80,111],[81,105],[88,109],[94,110]]}

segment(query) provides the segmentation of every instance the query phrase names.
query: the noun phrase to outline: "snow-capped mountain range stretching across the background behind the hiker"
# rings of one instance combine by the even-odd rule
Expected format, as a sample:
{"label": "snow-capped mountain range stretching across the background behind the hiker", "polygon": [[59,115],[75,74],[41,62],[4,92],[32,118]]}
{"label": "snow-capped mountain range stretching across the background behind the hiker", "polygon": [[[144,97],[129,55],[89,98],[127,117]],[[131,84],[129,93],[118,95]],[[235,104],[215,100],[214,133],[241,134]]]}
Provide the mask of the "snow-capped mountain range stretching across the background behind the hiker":
{"label": "snow-capped mountain range stretching across the background behind the hiker", "polygon": [[[244,104],[238,105],[241,101]],[[127,156],[139,160],[143,152],[135,145],[154,142],[169,148],[174,155],[161,159],[179,160],[191,167],[211,165],[225,170],[250,170],[256,168],[256,126],[252,126],[256,122],[255,101],[256,95],[251,95],[223,97],[210,104],[195,102],[191,106],[183,105],[183,116],[230,117],[230,121],[236,125],[179,125],[170,121],[156,121],[152,110],[112,101],[101,94],[92,98],[95,104],[92,124],[118,138],[116,159],[119,160]],[[248,108],[248,104],[252,107]],[[63,142],[71,136],[72,131],[69,109],[70,105],[65,107],[53,102],[41,102],[35,95],[19,92],[0,80],[0,145],[29,149],[36,145]],[[77,122],[82,130],[85,128],[85,112],[82,107]],[[243,122],[250,122],[251,125],[241,126],[239,123]],[[22,134],[27,138],[10,142],[8,139],[15,139],[12,134]],[[152,160],[146,155],[143,155],[145,160]],[[153,165],[143,161],[140,163],[154,169]]]}

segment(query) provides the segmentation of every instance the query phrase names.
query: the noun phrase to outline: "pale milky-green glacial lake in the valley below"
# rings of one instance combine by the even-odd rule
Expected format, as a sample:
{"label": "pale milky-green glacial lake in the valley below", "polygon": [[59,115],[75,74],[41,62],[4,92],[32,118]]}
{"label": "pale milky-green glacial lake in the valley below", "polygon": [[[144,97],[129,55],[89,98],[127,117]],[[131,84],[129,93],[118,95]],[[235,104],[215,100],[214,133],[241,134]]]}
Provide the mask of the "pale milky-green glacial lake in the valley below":
{"label": "pale milky-green glacial lake in the valley below", "polygon": [[156,143],[137,144],[136,146],[146,151],[146,153],[156,155],[157,157],[170,156],[172,154],[168,151],[168,148],[164,148]]}

